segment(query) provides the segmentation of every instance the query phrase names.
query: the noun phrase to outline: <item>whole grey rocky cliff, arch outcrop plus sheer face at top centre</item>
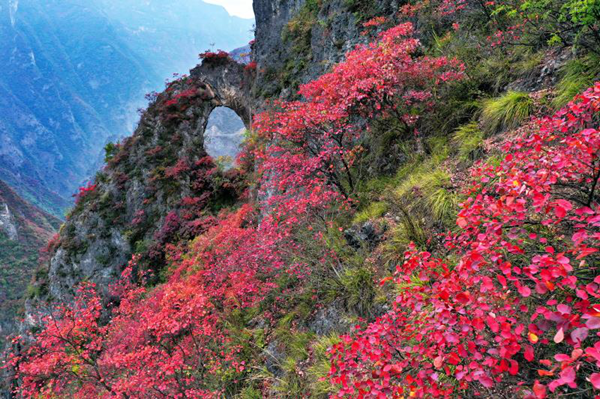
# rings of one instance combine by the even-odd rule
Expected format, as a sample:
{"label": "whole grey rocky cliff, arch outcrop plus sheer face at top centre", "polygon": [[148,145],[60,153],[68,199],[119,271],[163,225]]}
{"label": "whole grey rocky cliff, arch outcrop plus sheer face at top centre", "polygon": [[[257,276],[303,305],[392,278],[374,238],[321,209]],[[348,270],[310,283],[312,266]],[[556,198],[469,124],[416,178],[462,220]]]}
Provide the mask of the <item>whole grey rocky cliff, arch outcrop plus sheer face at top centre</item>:
{"label": "whole grey rocky cliff, arch outcrop plus sheer face at top centre", "polygon": [[[94,190],[79,200],[61,229],[54,255],[43,266],[45,277],[35,282],[44,287],[42,298],[69,300],[84,280],[107,287],[133,253],[160,259],[164,254],[153,249],[191,238],[193,234],[180,230],[189,220],[180,219],[196,220],[198,215],[183,217],[182,212],[208,204],[218,208],[214,202],[221,201],[219,195],[225,201],[235,198],[222,184],[215,186],[215,179],[206,186],[198,182],[198,173],[213,167],[203,163],[211,112],[230,108],[248,128],[265,100],[294,96],[294,85],[323,73],[365,40],[359,34],[365,18],[393,13],[397,4],[258,0],[254,7],[256,68],[215,53],[156,98],[134,135],[110,154]],[[177,233],[163,233],[165,229]]]}

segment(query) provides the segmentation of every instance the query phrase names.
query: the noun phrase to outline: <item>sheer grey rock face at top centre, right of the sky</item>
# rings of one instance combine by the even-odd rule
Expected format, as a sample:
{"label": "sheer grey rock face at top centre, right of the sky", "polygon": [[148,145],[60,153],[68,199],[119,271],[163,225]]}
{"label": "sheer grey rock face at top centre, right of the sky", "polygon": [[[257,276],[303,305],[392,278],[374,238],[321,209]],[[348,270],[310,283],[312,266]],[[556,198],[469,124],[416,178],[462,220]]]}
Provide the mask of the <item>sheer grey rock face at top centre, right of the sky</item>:
{"label": "sheer grey rock face at top centre, right of the sky", "polygon": [[366,40],[362,23],[392,16],[399,0],[254,0],[258,62],[255,95],[293,97]]}

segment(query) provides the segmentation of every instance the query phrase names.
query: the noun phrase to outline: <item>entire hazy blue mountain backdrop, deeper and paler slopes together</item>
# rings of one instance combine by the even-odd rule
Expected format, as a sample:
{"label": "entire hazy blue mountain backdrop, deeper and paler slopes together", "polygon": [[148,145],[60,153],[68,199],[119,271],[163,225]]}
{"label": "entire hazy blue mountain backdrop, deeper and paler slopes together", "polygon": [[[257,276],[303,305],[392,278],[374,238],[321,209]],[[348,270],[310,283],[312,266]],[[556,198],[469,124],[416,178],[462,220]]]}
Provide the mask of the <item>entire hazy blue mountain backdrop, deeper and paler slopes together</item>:
{"label": "entire hazy blue mountain backdrop, deeper and paler slopes together", "polygon": [[0,179],[62,215],[144,93],[251,28],[199,0],[0,0]]}

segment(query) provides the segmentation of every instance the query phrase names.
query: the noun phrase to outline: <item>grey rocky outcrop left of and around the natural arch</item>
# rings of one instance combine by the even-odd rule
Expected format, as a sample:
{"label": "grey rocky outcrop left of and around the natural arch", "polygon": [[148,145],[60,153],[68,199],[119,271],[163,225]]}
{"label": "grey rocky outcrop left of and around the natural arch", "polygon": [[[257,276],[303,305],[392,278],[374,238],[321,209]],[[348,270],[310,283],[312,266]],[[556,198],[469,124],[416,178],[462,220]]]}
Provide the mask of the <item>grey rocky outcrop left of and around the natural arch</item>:
{"label": "grey rocky outcrop left of and around the natural arch", "polygon": [[44,287],[37,300],[69,301],[81,281],[108,294],[133,253],[146,254],[160,269],[165,243],[199,234],[210,223],[206,210],[235,198],[236,172],[214,178],[220,172],[207,157],[204,132],[217,107],[232,109],[250,125],[250,83],[244,65],[207,59],[155,99],[134,135],[107,154],[107,167],[78,198],[35,282]]}

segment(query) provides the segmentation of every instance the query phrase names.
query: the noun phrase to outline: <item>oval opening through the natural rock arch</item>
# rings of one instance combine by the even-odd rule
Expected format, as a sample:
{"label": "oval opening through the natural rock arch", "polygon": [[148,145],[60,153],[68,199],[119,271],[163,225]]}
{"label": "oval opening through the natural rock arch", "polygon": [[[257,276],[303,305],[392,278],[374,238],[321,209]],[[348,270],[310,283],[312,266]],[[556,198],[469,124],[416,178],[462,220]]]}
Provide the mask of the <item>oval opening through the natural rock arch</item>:
{"label": "oval opening through the natural rock arch", "polygon": [[238,114],[229,107],[212,110],[204,130],[204,149],[226,169],[234,162],[244,141],[246,126]]}

